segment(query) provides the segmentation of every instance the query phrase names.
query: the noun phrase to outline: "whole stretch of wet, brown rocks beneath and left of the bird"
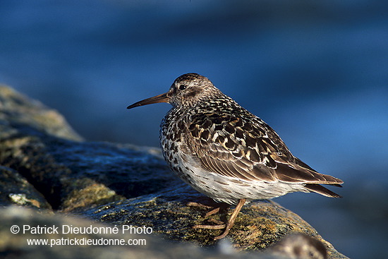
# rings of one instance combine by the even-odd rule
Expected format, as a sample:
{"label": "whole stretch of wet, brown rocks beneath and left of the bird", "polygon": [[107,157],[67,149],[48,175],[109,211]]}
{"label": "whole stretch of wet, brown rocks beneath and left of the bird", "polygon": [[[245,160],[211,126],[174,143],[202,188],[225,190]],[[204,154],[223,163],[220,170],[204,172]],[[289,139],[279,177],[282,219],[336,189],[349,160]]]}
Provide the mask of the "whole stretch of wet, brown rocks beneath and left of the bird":
{"label": "whole stretch of wet, brown rocks beneath and left of the bird", "polygon": [[[129,251],[136,251],[139,258],[140,255],[174,258],[173,252],[180,255],[176,258],[182,258],[188,256],[188,251],[195,251],[190,258],[225,258],[217,252],[217,247],[226,241],[213,241],[221,230],[191,228],[195,224],[207,224],[203,216],[208,210],[190,207],[187,203],[211,205],[212,201],[174,176],[159,149],[83,141],[60,114],[6,86],[0,87],[0,165],[0,204],[4,206],[0,210],[0,220],[4,222],[1,232],[6,236],[0,245],[3,254],[21,253],[29,258],[23,252],[27,236],[10,234],[13,224],[37,224],[32,223],[35,219],[40,224],[63,224],[63,215],[70,215],[74,224],[82,217],[83,224],[93,226],[101,222],[152,229],[153,233],[147,235],[147,240],[152,239],[147,248],[114,246],[109,253],[116,258],[128,258]],[[33,210],[5,207],[9,205]],[[230,213],[231,210],[210,218],[224,221]],[[243,207],[229,234],[229,247],[231,251],[266,251],[265,248],[295,232],[322,242],[328,258],[346,258],[301,217],[267,200]],[[136,236],[138,238],[138,234]],[[207,251],[193,243],[212,249]],[[71,246],[71,249],[61,246],[50,251],[46,246],[39,251],[40,247],[28,246],[27,250],[31,256],[46,251],[57,258],[65,258],[63,251],[66,249],[73,249],[79,258],[102,258],[102,254],[107,253],[99,246]],[[236,255],[251,256],[237,253],[234,258]],[[308,258],[317,258],[313,253],[310,255],[312,257]],[[138,258],[136,256],[133,254],[129,258]],[[283,255],[255,252],[255,258],[260,258],[258,256],[279,258]],[[284,256],[292,258],[289,254]],[[298,256],[295,258],[303,258]]]}

